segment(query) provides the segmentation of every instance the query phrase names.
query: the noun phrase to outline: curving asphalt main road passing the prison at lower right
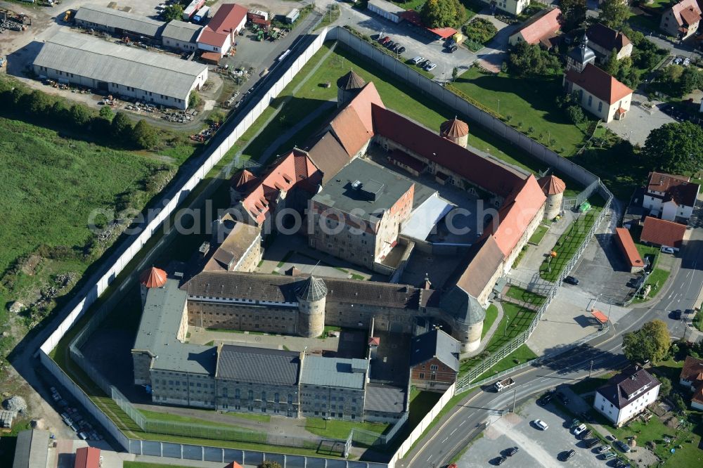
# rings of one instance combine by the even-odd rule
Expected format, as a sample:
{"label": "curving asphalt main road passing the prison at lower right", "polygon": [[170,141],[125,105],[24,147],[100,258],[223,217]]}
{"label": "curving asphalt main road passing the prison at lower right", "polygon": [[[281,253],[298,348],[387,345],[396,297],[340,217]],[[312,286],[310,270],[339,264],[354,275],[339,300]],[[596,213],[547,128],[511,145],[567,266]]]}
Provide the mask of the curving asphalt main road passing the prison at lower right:
{"label": "curving asphalt main road passing the prison at lower right", "polygon": [[593,361],[593,372],[604,372],[620,368],[627,363],[621,348],[621,334],[637,330],[643,323],[661,318],[671,331],[672,337],[683,336],[681,321],[671,320],[672,308],[692,308],[703,284],[703,230],[696,229],[691,239],[678,256],[681,264],[673,268],[672,280],[662,295],[652,304],[633,308],[610,331],[594,342],[579,346],[572,351],[541,363],[534,368],[521,370],[511,375],[517,382],[515,390],[501,394],[489,386],[477,389],[457,405],[453,414],[440,422],[432,432],[418,443],[412,453],[396,466],[407,468],[443,467],[453,455],[462,450],[467,441],[482,429],[482,422],[491,413],[506,410],[514,401],[532,398],[534,395],[568,384],[588,376]]}

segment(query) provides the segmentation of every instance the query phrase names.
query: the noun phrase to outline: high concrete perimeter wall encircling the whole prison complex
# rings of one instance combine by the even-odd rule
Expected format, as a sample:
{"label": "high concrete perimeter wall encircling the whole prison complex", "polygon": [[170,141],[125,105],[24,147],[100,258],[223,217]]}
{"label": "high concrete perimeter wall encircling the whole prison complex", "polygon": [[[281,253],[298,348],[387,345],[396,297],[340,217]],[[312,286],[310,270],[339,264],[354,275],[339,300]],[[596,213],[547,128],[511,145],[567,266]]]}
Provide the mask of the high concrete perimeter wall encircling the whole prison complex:
{"label": "high concrete perimeter wall encircling the whole prison complex", "polygon": [[[58,379],[58,382],[65,386],[65,388],[72,394],[74,398],[77,399],[78,403],[81,404],[90,415],[95,418],[95,420],[101,424],[105,430],[112,436],[112,438],[117,441],[121,446],[126,448],[129,453],[143,454],[143,455],[156,455],[163,457],[176,457],[189,460],[207,460],[213,462],[230,462],[235,460],[241,464],[259,464],[264,460],[273,460],[282,464],[284,468],[323,468],[323,467],[348,467],[348,468],[370,468],[370,467],[389,467],[393,468],[396,460],[403,457],[407,451],[411,448],[412,444],[422,435],[423,431],[429,427],[434,417],[437,417],[441,408],[449,402],[451,396],[456,392],[460,391],[458,385],[453,386],[450,391],[447,391],[444,396],[440,399],[437,405],[432,408],[432,410],[425,416],[422,422],[415,427],[415,430],[411,433],[411,436],[401,445],[401,448],[393,455],[392,460],[387,464],[371,463],[371,462],[354,462],[348,460],[335,460],[335,459],[325,459],[320,457],[307,457],[302,455],[281,455],[274,453],[261,453],[252,450],[235,450],[228,448],[217,448],[209,446],[193,446],[190,444],[182,443],[167,443],[160,441],[148,441],[141,439],[131,439],[128,438],[120,429],[117,428],[115,423],[110,420],[110,417],[105,415],[105,412],[98,408],[98,405],[94,403],[89,396],[75,383],[70,377],[68,377],[63,370],[61,370],[56,362],[49,357],[49,353],[53,350],[58,342],[64,337],[66,332],[76,323],[76,321],[83,315],[85,311],[93,304],[98,297],[101,296],[103,292],[110,286],[110,284],[117,278],[122,270],[129,264],[129,262],[134,259],[136,254],[140,252],[142,247],[146,245],[146,242],[152,238],[157,229],[162,226],[162,223],[166,221],[169,216],[171,216],[176,207],[186,200],[188,195],[195,189],[195,187],[202,181],[208,172],[221,160],[222,157],[230,150],[234,143],[244,134],[244,132],[250,128],[250,126],[256,121],[256,119],[262,115],[262,112],[269,106],[271,100],[276,98],[278,94],[283,91],[286,85],[290,83],[293,77],[299,72],[299,70],[307,63],[307,61],[316,53],[319,48],[321,48],[323,41],[336,39],[340,44],[352,48],[352,50],[360,53],[362,56],[370,58],[373,62],[386,68],[389,72],[392,72],[396,77],[399,77],[406,81],[411,86],[419,89],[428,96],[439,100],[444,105],[449,106],[458,112],[458,114],[465,115],[467,118],[473,122],[484,126],[486,129],[494,132],[494,134],[505,138],[506,141],[516,145],[519,148],[527,151],[533,157],[540,160],[541,162],[553,167],[555,171],[559,171],[560,174],[565,174],[570,178],[583,183],[584,186],[591,186],[594,182],[598,182],[598,192],[605,198],[606,204],[605,209],[598,217],[598,220],[594,223],[591,231],[589,231],[586,240],[583,242],[583,246],[588,243],[593,237],[593,232],[598,226],[600,221],[610,207],[610,202],[612,200],[612,195],[610,191],[605,188],[605,186],[598,181],[598,178],[591,174],[591,172],[579,167],[578,165],[560,157],[555,152],[549,150],[541,143],[538,143],[528,136],[521,134],[519,131],[512,129],[512,127],[506,125],[500,119],[490,115],[483,110],[480,110],[476,106],[468,103],[466,100],[460,96],[452,93],[449,89],[445,89],[441,84],[432,82],[432,80],[427,79],[422,74],[415,72],[410,67],[407,67],[398,60],[382,53],[382,51],[377,48],[370,46],[362,39],[355,37],[352,33],[344,30],[341,27],[335,27],[331,30],[325,27],[321,31],[314,41],[304,50],[301,55],[288,66],[288,69],[283,72],[282,76],[270,84],[269,89],[264,92],[264,96],[254,105],[252,108],[240,119],[240,122],[236,124],[231,129],[231,133],[221,138],[216,136],[216,140],[221,138],[219,143],[213,144],[209,148],[209,153],[202,157],[202,164],[194,169],[193,174],[190,176],[183,177],[183,183],[180,186],[174,186],[174,188],[169,189],[169,192],[165,194],[162,199],[161,209],[155,210],[155,214],[150,216],[148,220],[143,223],[143,230],[141,233],[131,235],[124,242],[115,249],[115,252],[110,254],[103,260],[103,266],[100,268],[98,273],[89,278],[86,281],[86,286],[82,288],[81,292],[77,294],[77,299],[70,303],[67,308],[67,315],[62,320],[56,330],[53,330],[51,334],[47,337],[46,341],[41,344],[37,355],[42,365],[46,367],[49,372]],[[215,143],[215,142],[213,142]],[[560,280],[568,273],[568,271],[576,264],[579,257],[581,256],[583,248],[577,252],[569,264],[565,266],[560,276]],[[124,289],[125,285],[121,285],[120,291]],[[553,294],[552,294],[553,297]],[[546,305],[541,308],[544,310]],[[107,310],[105,306],[103,308]],[[103,310],[101,309],[101,310]],[[101,313],[98,311],[96,314]],[[538,314],[541,317],[541,313]],[[104,316],[100,316],[101,318]],[[96,320],[98,323],[99,320]],[[536,325],[534,323],[533,325]],[[529,332],[534,330],[534,326],[531,325]],[[527,334],[529,337],[529,334]],[[74,345],[78,344],[84,337],[79,337],[74,341]],[[527,339],[527,338],[525,338]],[[514,344],[510,344],[514,346]],[[86,367],[84,369],[89,371],[91,377],[96,377],[99,375],[98,372],[93,372],[94,369],[90,368],[90,363],[82,356],[79,351],[79,346],[72,346],[70,348],[70,354],[72,358],[76,360],[79,365]],[[475,378],[474,376],[473,378]],[[467,384],[470,382],[468,380],[465,382]],[[96,384],[101,387],[101,389],[107,389],[106,393],[110,395],[115,401],[120,400],[120,394],[114,393],[116,389],[113,389],[110,384],[104,380],[97,379]],[[126,401],[126,399],[124,400]],[[125,406],[127,410],[129,408]],[[132,413],[134,415],[134,413]],[[134,417],[138,418],[137,415]]]}

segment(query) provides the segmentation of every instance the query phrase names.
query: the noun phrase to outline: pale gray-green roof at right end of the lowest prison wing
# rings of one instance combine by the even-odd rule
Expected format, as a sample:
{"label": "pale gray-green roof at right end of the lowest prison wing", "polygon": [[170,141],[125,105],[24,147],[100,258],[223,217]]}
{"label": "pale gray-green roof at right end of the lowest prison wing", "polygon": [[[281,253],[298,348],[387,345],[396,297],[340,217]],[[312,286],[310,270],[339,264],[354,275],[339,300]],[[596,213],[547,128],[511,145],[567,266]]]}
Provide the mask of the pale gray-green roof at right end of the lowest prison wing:
{"label": "pale gray-green roof at right end of the lowest prison wing", "polygon": [[368,372],[366,359],[305,356],[300,383],[361,390],[366,382],[366,372]]}

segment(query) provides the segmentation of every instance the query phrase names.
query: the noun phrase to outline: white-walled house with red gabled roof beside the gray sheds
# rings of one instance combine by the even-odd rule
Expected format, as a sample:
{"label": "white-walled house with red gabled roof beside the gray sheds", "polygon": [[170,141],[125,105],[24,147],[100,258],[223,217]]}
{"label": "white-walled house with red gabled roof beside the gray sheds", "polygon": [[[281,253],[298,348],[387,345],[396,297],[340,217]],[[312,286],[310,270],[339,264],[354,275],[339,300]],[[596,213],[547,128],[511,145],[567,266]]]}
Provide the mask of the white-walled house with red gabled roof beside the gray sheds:
{"label": "white-walled house with red gabled roof beside the gray sheds", "polygon": [[[229,52],[234,39],[247,24],[247,8],[237,4],[223,4],[198,36],[198,48],[218,54]],[[206,52],[206,53],[207,53]]]}

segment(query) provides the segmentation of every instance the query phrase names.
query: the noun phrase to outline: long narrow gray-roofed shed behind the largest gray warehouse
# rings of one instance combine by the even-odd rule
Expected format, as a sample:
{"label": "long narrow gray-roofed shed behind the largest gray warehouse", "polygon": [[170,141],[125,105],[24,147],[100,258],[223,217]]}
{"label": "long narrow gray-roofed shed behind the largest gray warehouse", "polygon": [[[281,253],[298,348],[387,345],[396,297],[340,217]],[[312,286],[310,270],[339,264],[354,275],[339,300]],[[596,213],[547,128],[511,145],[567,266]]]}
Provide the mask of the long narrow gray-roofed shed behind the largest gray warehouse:
{"label": "long narrow gray-roofed shed behind the largest gray warehouse", "polygon": [[149,38],[159,37],[166,24],[162,21],[150,20],[143,16],[94,5],[78,8],[75,22],[80,27],[107,31],[116,36],[131,34]]}

